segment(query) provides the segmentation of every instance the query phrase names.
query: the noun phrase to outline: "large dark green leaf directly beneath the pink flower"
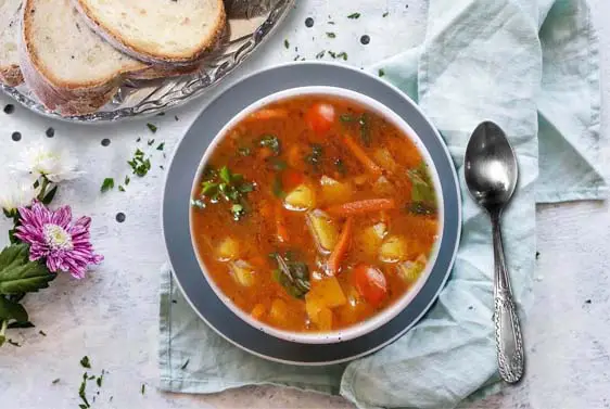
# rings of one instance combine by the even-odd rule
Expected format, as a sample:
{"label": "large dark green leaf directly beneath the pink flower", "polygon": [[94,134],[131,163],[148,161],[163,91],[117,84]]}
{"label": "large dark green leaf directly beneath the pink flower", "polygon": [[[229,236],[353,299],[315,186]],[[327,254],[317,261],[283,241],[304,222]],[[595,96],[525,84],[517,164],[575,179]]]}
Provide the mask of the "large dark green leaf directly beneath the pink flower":
{"label": "large dark green leaf directly beneath the pink flower", "polygon": [[0,253],[0,294],[37,292],[55,277],[42,263],[28,259],[27,244],[13,244]]}

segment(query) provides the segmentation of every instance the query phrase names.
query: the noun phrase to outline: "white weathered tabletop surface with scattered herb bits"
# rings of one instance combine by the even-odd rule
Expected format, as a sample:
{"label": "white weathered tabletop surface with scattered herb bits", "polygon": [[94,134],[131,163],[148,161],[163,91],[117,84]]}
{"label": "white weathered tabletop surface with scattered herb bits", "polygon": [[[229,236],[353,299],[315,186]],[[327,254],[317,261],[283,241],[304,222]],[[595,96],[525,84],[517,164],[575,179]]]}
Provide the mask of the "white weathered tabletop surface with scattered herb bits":
{"label": "white weathered tabletop surface with scattered herb bits", "polygon": [[[366,66],[421,41],[425,7],[422,0],[353,0],[351,2],[302,0],[275,38],[249,61],[229,82],[253,69],[297,54],[313,59],[322,49],[348,53],[347,63]],[[345,4],[350,4],[346,8]],[[610,15],[608,0],[592,0],[600,28],[602,75],[610,78]],[[382,18],[384,11],[387,17]],[[357,21],[347,20],[360,12]],[[305,27],[312,16],[314,27]],[[329,17],[330,16],[330,17]],[[336,25],[328,25],[329,20]],[[327,31],[336,33],[335,39]],[[360,36],[370,43],[360,43]],[[284,48],[284,39],[290,49]],[[294,50],[298,47],[298,51]],[[219,92],[226,85],[217,88]],[[180,136],[205,104],[200,99],[152,120],[152,136],[140,120],[111,126],[76,126],[36,116],[20,106],[11,115],[0,111],[0,171],[23,146],[47,140],[69,148],[87,175],[67,183],[56,203],[71,203],[76,215],[92,216],[92,237],[104,264],[88,279],[62,277],[51,289],[27,298],[36,330],[12,332],[22,347],[0,348],[0,408],[63,409],[78,406],[78,385],[88,355],[97,370],[110,371],[94,408],[350,408],[340,397],[277,387],[249,387],[212,395],[187,396],[158,393],[157,290],[158,268],[164,261],[158,209],[163,170],[167,159],[144,142],[165,142],[171,152]],[[610,131],[610,85],[603,85],[602,136]],[[0,106],[11,103],[0,97]],[[177,115],[179,120],[175,120]],[[22,139],[12,140],[20,131]],[[103,139],[109,146],[102,146]],[[142,138],[142,142],[136,140]],[[603,162],[610,149],[605,141]],[[132,178],[127,192],[99,193],[105,177],[128,174],[126,161],[135,149],[153,152],[153,169],[143,179]],[[608,174],[609,166],[605,165]],[[1,187],[0,187],[1,189]],[[124,213],[126,220],[115,220]],[[0,228],[4,240],[8,223]],[[610,212],[606,204],[576,203],[545,206],[538,210],[541,253],[535,283],[536,302],[525,328],[529,370],[525,382],[469,406],[472,409],[600,409],[610,408]],[[0,242],[3,244],[3,242]],[[43,330],[47,336],[38,333]],[[56,384],[51,384],[54,379]],[[142,383],[148,385],[141,394]],[[110,400],[111,396],[112,401]]]}

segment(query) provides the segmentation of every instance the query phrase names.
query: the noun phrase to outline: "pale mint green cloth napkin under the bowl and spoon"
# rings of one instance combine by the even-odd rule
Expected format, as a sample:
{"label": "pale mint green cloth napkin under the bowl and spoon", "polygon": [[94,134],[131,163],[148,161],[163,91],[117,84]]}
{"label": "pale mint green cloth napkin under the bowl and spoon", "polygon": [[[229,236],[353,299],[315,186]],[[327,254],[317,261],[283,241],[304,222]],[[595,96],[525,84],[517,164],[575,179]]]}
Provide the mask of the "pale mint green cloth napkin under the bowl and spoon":
{"label": "pale mint green cloth napkin under the bowl and spoon", "polygon": [[[606,195],[595,167],[597,60],[584,0],[430,0],[424,43],[374,67],[418,101],[442,132],[460,178],[468,138],[480,122],[492,119],[510,137],[520,180],[504,233],[523,319],[532,302],[535,203]],[[462,238],[439,302],[401,340],[347,365],[292,367],[238,349],[199,319],[165,268],[161,388],[213,393],[288,385],[341,394],[360,408],[452,408],[497,391],[490,222],[463,182],[461,190]]]}

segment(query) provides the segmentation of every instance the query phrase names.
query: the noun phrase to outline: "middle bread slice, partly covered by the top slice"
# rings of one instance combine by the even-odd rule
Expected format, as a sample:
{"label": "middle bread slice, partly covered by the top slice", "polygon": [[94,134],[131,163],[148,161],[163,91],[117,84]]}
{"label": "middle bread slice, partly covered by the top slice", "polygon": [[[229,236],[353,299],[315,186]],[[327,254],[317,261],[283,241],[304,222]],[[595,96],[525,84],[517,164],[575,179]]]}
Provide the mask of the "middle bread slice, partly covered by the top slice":
{"label": "middle bread slice, partly covered by the top slice", "polygon": [[126,78],[182,75],[131,59],[93,33],[69,0],[25,0],[21,66],[26,84],[49,110],[62,115],[98,111]]}

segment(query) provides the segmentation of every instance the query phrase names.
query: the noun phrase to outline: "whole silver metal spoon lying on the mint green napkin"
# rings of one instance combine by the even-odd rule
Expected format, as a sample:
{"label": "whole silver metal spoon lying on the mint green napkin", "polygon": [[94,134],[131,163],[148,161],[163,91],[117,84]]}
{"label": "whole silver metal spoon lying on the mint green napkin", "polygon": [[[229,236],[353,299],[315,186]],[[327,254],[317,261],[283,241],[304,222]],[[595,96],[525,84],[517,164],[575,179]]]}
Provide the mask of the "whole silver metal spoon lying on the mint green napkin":
{"label": "whole silver metal spoon lying on the mint green napkin", "polygon": [[465,178],[470,194],[490,214],[494,234],[494,323],[499,373],[514,383],[523,374],[523,341],[512,299],[500,231],[500,216],[517,187],[517,158],[504,131],[494,123],[474,129],[466,148]]}

